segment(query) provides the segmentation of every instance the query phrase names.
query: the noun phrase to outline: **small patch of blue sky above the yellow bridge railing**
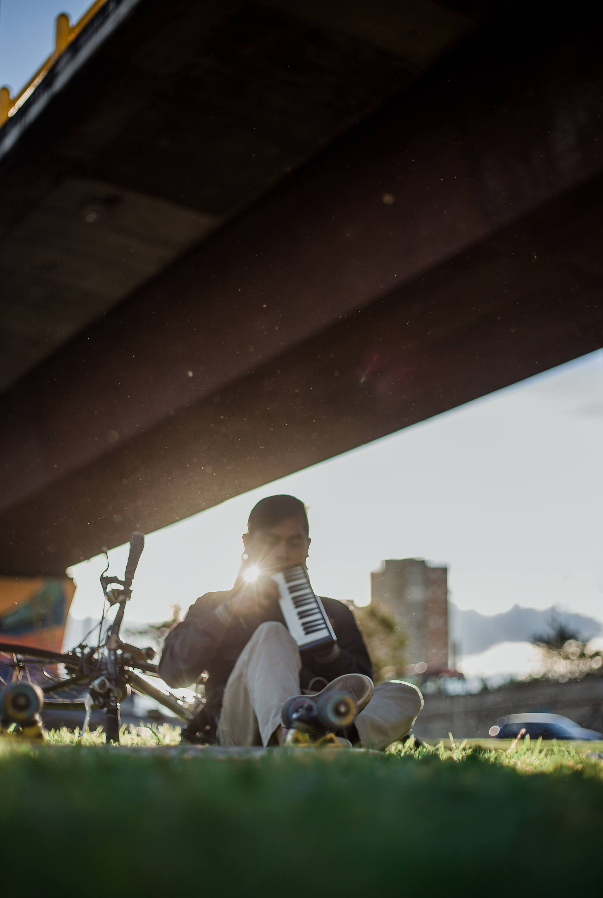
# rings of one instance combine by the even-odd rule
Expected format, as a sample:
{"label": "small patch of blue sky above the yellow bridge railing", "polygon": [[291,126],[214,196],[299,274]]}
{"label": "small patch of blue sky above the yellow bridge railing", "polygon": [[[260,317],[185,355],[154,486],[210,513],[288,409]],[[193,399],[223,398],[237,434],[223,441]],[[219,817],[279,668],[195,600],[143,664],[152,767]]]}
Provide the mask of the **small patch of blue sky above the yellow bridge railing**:
{"label": "small patch of blue sky above the yellow bridge railing", "polygon": [[71,22],[91,6],[91,0],[0,0],[0,85],[13,95],[54,49],[55,19],[68,13]]}

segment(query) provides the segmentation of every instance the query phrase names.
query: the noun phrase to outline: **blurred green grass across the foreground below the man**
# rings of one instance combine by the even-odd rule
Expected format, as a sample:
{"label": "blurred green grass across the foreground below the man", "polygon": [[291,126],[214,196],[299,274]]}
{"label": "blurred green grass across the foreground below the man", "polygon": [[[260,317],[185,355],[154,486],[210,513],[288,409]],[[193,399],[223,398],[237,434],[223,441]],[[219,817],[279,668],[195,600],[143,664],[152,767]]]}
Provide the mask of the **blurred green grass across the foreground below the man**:
{"label": "blurred green grass across the foreground below the man", "polygon": [[[158,727],[129,740],[173,736]],[[4,893],[595,893],[601,766],[571,746],[525,743],[218,760],[6,739]]]}

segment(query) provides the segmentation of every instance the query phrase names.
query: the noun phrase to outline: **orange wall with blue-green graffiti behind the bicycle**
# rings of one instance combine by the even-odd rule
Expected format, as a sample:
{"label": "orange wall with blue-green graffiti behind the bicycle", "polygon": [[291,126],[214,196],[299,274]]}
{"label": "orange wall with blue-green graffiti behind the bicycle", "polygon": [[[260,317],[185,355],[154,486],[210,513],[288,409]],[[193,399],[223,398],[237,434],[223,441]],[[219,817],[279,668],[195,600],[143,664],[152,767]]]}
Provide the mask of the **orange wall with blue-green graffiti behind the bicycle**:
{"label": "orange wall with blue-green graffiti behind the bicycle", "polygon": [[69,577],[0,577],[0,641],[60,652],[74,593]]}

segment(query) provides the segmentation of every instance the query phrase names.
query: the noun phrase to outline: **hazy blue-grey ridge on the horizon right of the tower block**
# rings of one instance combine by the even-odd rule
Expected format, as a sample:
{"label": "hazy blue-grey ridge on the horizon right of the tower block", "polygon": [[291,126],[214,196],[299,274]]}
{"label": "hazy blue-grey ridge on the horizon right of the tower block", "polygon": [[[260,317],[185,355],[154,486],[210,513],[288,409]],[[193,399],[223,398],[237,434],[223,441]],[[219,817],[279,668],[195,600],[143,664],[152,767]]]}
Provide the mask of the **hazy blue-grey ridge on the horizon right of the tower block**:
{"label": "hazy blue-grey ridge on the horizon right of the tower block", "polygon": [[448,627],[450,639],[457,643],[457,656],[476,655],[499,642],[530,642],[536,635],[550,633],[555,623],[563,623],[584,641],[603,632],[603,624],[594,618],[559,608],[538,611],[513,605],[508,612],[489,616],[449,605]]}

